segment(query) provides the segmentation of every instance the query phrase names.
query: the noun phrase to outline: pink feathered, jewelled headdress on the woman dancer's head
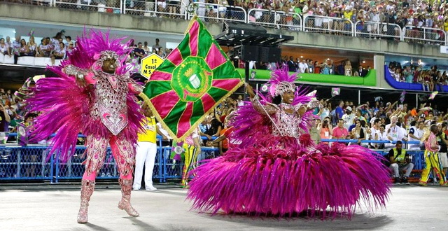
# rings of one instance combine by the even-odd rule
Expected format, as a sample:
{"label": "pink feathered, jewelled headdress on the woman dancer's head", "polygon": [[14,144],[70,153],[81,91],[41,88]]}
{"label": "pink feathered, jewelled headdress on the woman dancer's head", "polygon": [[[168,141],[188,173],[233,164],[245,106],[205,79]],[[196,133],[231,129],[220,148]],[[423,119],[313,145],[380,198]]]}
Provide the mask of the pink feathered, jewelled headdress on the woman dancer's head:
{"label": "pink feathered, jewelled headdress on the woman dancer's head", "polygon": [[271,97],[276,97],[283,94],[284,92],[291,90],[295,92],[294,81],[297,79],[297,74],[292,75],[288,72],[288,66],[283,66],[282,68],[275,69],[272,71],[272,76],[269,79],[269,94]]}

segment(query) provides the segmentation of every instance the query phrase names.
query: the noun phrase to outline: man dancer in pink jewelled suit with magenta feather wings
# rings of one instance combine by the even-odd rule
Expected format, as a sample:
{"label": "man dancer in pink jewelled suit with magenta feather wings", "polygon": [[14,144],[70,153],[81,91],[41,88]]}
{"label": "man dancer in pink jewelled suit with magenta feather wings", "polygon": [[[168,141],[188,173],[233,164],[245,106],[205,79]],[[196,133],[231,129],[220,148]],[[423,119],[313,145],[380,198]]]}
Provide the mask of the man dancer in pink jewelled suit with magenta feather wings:
{"label": "man dancer in pink jewelled suit with magenta feather wings", "polygon": [[40,140],[57,132],[50,153],[59,149],[64,161],[73,153],[78,132],[87,136],[78,223],[88,221],[95,177],[110,144],[120,172],[122,199],[118,208],[130,216],[139,216],[130,204],[130,196],[137,132],[143,119],[134,94],[141,92],[142,87],[123,66],[130,52],[129,42],[123,44],[122,39],[109,39],[109,34],[93,30],[77,41],[69,59],[62,66],[50,68],[60,78],[45,78],[36,83],[29,104],[33,111],[42,113],[31,139]]}

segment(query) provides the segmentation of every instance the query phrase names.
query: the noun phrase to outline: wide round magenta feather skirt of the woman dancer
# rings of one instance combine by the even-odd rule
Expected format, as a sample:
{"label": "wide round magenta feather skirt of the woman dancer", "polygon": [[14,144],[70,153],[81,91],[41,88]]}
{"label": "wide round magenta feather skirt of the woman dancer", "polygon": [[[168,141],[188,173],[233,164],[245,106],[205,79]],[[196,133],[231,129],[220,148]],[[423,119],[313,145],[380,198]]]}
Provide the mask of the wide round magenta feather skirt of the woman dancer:
{"label": "wide round magenta feather skirt of the woman dancer", "polygon": [[360,202],[370,211],[385,206],[390,183],[381,158],[360,146],[303,147],[268,135],[200,165],[188,199],[212,214],[351,218]]}

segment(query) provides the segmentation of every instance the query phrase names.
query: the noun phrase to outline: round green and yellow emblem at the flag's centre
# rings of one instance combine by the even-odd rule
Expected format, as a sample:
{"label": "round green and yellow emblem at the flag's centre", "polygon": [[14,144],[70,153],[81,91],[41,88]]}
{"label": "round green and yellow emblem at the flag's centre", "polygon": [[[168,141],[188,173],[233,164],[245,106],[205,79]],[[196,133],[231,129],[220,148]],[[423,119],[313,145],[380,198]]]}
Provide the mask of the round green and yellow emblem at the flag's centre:
{"label": "round green and yellow emblem at the flag's centre", "polygon": [[184,102],[195,102],[211,87],[213,72],[202,57],[187,57],[173,71],[171,84]]}

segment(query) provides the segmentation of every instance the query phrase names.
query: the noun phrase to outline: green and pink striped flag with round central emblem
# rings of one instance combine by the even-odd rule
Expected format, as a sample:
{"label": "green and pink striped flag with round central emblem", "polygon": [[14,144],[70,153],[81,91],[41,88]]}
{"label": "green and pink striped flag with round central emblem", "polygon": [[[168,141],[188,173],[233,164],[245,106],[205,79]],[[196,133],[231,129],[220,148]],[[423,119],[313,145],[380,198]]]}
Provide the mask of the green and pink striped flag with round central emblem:
{"label": "green and pink striped flag with round central emblem", "polygon": [[243,78],[197,18],[186,35],[153,72],[141,95],[159,122],[176,139],[184,139]]}

